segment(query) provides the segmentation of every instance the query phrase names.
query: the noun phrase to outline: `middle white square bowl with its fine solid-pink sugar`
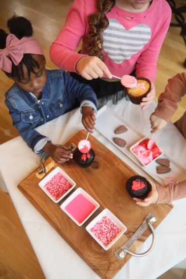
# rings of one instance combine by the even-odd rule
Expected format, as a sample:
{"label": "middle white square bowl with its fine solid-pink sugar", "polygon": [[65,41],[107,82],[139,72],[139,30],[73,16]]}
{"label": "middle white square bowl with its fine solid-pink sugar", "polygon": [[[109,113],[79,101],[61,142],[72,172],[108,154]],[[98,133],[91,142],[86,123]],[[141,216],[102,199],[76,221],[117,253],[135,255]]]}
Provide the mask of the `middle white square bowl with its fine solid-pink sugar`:
{"label": "middle white square bowl with its fine solid-pink sugar", "polygon": [[78,226],[82,226],[99,206],[100,204],[94,198],[79,187],[61,204],[60,208]]}

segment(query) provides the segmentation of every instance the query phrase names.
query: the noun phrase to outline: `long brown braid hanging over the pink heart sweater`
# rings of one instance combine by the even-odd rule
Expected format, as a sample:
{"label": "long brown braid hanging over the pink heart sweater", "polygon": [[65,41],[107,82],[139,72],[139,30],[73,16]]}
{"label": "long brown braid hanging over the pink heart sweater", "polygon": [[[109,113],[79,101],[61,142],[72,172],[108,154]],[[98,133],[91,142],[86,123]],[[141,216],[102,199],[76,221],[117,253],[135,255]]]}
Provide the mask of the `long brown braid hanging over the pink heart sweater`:
{"label": "long brown braid hanging over the pink heart sweater", "polygon": [[103,36],[102,32],[108,27],[109,21],[106,14],[115,5],[115,0],[97,0],[98,12],[89,15],[89,31],[86,38],[86,50],[89,56],[97,56],[102,61],[103,58]]}

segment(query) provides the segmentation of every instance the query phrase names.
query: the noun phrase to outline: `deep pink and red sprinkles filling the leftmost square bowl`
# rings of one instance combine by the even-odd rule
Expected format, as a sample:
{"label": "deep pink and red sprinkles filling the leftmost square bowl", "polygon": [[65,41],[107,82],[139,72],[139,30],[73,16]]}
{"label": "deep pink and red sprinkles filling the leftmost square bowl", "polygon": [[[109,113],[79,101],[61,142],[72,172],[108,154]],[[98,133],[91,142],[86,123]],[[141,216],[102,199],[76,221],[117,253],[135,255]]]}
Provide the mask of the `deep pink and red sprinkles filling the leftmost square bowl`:
{"label": "deep pink and red sprinkles filling the leftmost square bowl", "polygon": [[57,172],[44,186],[55,200],[63,196],[71,187],[72,184],[60,172]]}

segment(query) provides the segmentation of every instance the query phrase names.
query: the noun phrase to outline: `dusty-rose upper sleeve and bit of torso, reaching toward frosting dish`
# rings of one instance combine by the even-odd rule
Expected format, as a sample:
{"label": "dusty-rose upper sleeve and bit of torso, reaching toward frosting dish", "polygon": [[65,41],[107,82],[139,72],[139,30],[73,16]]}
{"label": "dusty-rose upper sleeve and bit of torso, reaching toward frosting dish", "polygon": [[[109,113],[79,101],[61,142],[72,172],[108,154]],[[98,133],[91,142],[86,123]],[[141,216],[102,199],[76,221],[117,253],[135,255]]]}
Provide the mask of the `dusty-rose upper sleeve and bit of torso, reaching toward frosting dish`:
{"label": "dusty-rose upper sleeve and bit of torso, reaching toward frosting dish", "polygon": [[[154,115],[169,122],[177,110],[177,102],[186,94],[186,73],[180,73],[168,80],[165,91],[158,98],[158,106]],[[186,138],[186,111],[183,116],[176,121],[175,126]]]}

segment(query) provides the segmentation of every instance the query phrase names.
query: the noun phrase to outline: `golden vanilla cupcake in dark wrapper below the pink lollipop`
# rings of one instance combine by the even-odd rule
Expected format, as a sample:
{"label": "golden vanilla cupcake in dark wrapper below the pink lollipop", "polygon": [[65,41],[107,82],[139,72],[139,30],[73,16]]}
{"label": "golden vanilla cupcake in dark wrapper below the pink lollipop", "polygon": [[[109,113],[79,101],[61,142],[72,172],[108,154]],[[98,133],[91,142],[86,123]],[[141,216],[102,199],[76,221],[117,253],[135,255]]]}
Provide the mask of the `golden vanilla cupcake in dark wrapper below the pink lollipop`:
{"label": "golden vanilla cupcake in dark wrapper below the pink lollipop", "polygon": [[126,94],[129,96],[132,103],[140,104],[143,97],[146,97],[150,92],[151,83],[146,78],[137,77],[137,85],[133,88],[126,87]]}

